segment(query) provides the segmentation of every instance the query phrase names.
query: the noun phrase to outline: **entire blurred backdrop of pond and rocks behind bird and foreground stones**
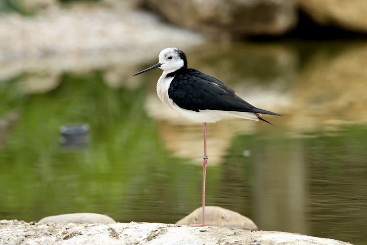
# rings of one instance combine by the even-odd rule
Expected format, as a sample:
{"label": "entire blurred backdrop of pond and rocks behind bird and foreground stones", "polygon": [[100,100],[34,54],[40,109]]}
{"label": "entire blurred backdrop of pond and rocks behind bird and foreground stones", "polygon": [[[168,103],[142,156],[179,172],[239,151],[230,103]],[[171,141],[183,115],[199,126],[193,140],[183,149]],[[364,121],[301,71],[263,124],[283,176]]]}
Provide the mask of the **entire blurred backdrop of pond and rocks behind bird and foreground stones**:
{"label": "entire blurred backdrop of pond and rocks behind bird and foreground stones", "polygon": [[[174,223],[201,205],[202,125],[156,95],[166,47],[274,123],[208,124],[207,205],[367,240],[365,0],[0,0],[0,219]],[[86,142],[60,127],[89,125]]]}

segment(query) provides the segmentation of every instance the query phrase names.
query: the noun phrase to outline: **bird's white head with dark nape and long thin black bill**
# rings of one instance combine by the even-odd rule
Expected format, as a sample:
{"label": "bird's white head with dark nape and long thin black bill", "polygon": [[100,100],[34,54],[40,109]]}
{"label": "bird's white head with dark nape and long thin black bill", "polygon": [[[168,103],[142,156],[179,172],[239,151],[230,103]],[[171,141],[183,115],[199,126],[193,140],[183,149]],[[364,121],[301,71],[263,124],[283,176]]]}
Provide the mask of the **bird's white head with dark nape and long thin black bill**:
{"label": "bird's white head with dark nape and long thin black bill", "polygon": [[145,73],[147,71],[160,68],[165,72],[175,72],[180,68],[187,68],[187,59],[186,55],[183,51],[177,48],[166,48],[163,49],[159,56],[159,63],[151,66],[141,72],[135,73],[134,75],[138,75],[141,73]]}

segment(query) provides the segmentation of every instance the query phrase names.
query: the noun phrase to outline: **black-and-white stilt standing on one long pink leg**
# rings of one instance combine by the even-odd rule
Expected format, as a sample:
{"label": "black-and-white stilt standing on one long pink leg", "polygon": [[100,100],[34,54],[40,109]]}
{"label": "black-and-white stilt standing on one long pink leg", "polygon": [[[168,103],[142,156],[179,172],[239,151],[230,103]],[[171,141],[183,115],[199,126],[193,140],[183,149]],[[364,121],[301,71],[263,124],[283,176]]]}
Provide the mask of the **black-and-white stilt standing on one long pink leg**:
{"label": "black-and-white stilt standing on one long pink leg", "polygon": [[[163,70],[157,81],[157,95],[163,104],[170,106],[186,120],[204,123],[204,156],[202,184],[202,222],[191,226],[206,226],[205,182],[208,155],[206,153],[206,123],[216,123],[231,116],[253,121],[264,121],[262,114],[282,116],[275,112],[256,108],[220,80],[187,67],[186,54],[178,48],[166,48],[159,53],[159,63],[135,75],[160,68]],[[273,125],[273,124],[272,124]]]}

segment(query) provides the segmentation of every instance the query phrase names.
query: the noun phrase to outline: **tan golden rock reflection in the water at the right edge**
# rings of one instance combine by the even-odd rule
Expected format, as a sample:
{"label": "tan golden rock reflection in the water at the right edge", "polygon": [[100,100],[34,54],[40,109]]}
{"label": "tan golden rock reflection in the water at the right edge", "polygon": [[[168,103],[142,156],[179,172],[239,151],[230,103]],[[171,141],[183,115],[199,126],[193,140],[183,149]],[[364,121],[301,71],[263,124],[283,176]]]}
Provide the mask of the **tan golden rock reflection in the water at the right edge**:
{"label": "tan golden rock reflection in the water at the right edge", "polygon": [[366,57],[367,43],[362,43],[334,53],[325,49],[310,58],[292,91],[291,110],[297,114],[292,114],[291,126],[315,129],[320,124],[366,123]]}

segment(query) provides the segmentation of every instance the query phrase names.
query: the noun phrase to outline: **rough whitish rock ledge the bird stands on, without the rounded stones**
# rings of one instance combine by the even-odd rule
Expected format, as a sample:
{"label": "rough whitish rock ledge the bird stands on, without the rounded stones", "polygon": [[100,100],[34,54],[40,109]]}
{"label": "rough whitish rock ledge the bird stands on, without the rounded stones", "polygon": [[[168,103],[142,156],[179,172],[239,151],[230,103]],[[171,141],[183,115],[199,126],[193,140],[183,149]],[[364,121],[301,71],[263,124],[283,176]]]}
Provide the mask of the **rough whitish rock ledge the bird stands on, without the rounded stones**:
{"label": "rough whitish rock ledge the bird stands on, without the rounded stones", "polygon": [[0,221],[0,244],[302,244],[350,245],[287,232],[163,223],[40,224]]}

